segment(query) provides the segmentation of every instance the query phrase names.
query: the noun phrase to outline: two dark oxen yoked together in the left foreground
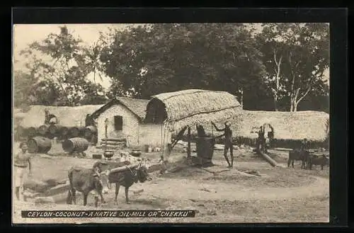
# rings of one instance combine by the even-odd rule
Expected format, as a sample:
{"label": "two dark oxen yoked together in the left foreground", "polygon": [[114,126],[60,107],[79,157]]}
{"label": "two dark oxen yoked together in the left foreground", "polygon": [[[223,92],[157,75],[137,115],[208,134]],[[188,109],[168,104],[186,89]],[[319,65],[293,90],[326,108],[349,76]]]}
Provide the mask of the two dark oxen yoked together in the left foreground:
{"label": "two dark oxen yoked together in the left foreground", "polygon": [[[122,171],[116,171],[116,168],[126,166]],[[112,170],[112,171],[110,171]],[[105,203],[103,194],[109,193],[111,184],[115,183],[115,203],[118,203],[118,193],[120,186],[125,187],[125,201],[130,203],[129,188],[134,183],[152,180],[147,172],[147,166],[139,162],[136,166],[130,166],[129,161],[110,162],[97,161],[91,169],[81,167],[72,167],[68,171],[69,192],[67,195],[67,204],[76,204],[76,191],[84,195],[84,205],[87,204],[89,193],[95,198],[95,206],[98,206],[98,199],[101,197],[101,203]]]}

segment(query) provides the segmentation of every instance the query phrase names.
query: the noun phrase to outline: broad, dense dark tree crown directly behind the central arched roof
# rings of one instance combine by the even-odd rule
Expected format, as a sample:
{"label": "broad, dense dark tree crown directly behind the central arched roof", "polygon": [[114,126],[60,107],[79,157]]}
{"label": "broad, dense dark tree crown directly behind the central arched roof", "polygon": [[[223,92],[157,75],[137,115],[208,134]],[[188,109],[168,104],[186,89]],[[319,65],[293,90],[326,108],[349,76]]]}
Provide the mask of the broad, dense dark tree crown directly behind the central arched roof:
{"label": "broad, dense dark tree crown directly behind the central arched roof", "polygon": [[110,38],[101,62],[116,83],[111,93],[150,98],[198,88],[239,95],[262,81],[261,53],[241,23],[144,25]]}

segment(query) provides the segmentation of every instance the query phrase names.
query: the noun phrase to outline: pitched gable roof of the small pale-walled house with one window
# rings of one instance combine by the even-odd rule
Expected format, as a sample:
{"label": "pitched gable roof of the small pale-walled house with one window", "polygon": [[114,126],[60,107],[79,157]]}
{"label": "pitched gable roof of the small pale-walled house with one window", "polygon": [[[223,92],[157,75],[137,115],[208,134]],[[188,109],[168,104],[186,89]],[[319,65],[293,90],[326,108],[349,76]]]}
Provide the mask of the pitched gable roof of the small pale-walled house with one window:
{"label": "pitched gable roof of the small pale-walled house with one window", "polygon": [[139,118],[139,120],[143,120],[145,118],[145,111],[147,109],[148,100],[143,100],[139,98],[127,98],[127,97],[117,97],[113,98],[113,100],[106,103],[104,106],[96,110],[92,113],[93,118],[97,118],[98,115],[103,113],[105,110],[110,108],[111,106],[122,104],[128,110],[130,110],[134,115]]}

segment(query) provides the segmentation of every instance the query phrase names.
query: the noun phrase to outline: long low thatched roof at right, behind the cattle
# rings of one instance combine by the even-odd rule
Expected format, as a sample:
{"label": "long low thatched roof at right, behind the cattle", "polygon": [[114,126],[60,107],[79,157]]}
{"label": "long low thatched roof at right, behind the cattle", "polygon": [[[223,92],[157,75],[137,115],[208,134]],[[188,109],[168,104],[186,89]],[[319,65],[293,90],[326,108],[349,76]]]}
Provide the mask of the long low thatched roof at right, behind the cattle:
{"label": "long low thatched roof at right, behind the cattle", "polygon": [[[236,120],[231,120],[234,137],[256,138],[258,135],[251,132],[253,127],[263,124],[270,124],[274,128],[274,138],[282,140],[307,140],[324,141],[327,130],[326,121],[329,114],[316,111],[273,112],[273,111],[251,111],[243,110]],[[218,127],[223,127],[223,122],[217,123]],[[211,125],[203,125],[207,133],[212,133]],[[214,135],[220,132],[213,131]],[[196,134],[196,130],[192,130]]]}

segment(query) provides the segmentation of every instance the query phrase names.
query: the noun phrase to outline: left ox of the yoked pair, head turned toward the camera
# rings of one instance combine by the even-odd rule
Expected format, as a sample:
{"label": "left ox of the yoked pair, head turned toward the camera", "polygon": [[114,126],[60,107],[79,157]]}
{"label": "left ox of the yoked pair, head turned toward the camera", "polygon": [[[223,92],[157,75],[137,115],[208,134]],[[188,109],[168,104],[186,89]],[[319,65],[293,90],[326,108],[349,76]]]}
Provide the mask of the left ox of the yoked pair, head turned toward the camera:
{"label": "left ox of the yoked pair, head turned toward the camera", "polygon": [[87,196],[93,193],[95,198],[95,206],[98,206],[98,196],[101,202],[105,203],[103,193],[108,193],[110,183],[108,182],[108,173],[101,173],[93,167],[92,169],[84,169],[81,167],[72,167],[68,171],[69,192],[67,195],[67,204],[76,205],[76,191],[83,193],[84,205],[87,204]]}

